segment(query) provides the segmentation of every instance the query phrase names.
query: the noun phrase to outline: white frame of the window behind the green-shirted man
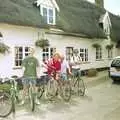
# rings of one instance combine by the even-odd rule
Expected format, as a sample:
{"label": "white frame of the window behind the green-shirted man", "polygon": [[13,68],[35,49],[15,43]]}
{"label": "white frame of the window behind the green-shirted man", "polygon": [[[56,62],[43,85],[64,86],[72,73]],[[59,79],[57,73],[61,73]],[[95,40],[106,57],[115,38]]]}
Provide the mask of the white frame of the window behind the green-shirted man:
{"label": "white frame of the window behind the green-shirted man", "polygon": [[[19,58],[17,58],[16,59],[16,48],[22,48],[22,58],[21,59],[19,59]],[[18,64],[18,65],[16,65],[16,61],[22,61],[26,56],[28,56],[29,54],[30,54],[30,51],[28,51],[28,52],[25,52],[25,48],[27,48],[28,47],[28,49],[30,49],[30,46],[15,46],[14,47],[14,67],[16,68],[16,67],[21,67],[21,65],[20,65],[20,63]],[[18,52],[18,54],[19,54],[19,52]],[[27,55],[26,55],[27,54]],[[19,56],[18,56],[19,57]]]}

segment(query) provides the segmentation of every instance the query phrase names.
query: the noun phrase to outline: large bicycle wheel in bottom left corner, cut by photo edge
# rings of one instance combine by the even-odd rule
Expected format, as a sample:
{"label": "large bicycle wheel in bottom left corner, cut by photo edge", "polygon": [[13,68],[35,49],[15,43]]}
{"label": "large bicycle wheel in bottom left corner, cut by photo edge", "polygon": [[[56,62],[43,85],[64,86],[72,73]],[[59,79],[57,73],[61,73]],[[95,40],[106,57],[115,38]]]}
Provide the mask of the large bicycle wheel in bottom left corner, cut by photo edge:
{"label": "large bicycle wheel in bottom left corner, cut by photo edge", "polygon": [[12,110],[12,100],[10,95],[5,92],[0,92],[0,117],[7,117]]}

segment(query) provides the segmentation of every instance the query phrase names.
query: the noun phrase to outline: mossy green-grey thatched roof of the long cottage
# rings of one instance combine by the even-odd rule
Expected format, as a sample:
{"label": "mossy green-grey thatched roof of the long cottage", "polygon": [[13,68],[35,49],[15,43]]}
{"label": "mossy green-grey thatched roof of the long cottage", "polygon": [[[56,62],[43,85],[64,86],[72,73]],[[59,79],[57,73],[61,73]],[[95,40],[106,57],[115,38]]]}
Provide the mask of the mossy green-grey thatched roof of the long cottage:
{"label": "mossy green-grey thatched roof of the long cottage", "polygon": [[[0,2],[0,22],[24,26],[50,27],[44,23],[39,8],[33,4],[34,1],[4,0]],[[105,37],[98,24],[99,18],[105,13],[105,10],[84,0],[56,0],[56,2],[60,12],[57,14],[57,24],[54,27],[60,28],[66,33],[84,34],[91,38]],[[119,37],[117,31],[120,28],[120,19],[112,14],[110,17],[114,36]],[[117,23],[115,23],[116,21]]]}

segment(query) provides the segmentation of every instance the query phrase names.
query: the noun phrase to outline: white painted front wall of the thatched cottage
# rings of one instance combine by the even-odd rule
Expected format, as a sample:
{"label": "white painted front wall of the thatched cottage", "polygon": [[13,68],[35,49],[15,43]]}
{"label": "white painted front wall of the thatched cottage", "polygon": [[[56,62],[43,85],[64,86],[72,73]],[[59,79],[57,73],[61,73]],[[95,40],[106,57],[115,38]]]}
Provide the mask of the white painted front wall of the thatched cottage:
{"label": "white painted front wall of the thatched cottage", "polygon": [[[6,55],[0,55],[0,75],[2,77],[18,75],[22,76],[21,69],[14,68],[14,47],[15,46],[32,46],[35,47],[34,43],[38,39],[38,32],[43,31],[42,29],[23,27],[15,25],[0,24],[0,32],[3,34],[3,41],[11,47],[11,53]],[[107,59],[107,50],[105,45],[107,40],[104,39],[87,39],[80,37],[71,37],[55,34],[46,34],[45,37],[50,41],[51,47],[56,47],[57,51],[65,53],[66,47],[74,48],[88,48],[89,61],[81,65],[82,69],[88,68],[99,68],[106,67],[109,64]],[[95,48],[92,47],[93,43],[101,44],[103,48],[103,59],[102,61],[95,60]],[[114,44],[114,43],[113,43]],[[42,52],[40,48],[35,49],[35,56],[39,62],[42,60]],[[117,52],[114,48],[114,56]]]}

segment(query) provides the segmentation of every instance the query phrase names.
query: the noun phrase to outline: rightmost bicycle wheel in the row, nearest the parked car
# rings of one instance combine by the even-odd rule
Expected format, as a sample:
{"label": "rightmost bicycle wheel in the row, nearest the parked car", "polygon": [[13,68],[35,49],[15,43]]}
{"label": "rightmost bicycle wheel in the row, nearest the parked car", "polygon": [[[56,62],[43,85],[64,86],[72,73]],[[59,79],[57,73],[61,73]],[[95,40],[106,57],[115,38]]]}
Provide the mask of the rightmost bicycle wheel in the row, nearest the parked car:
{"label": "rightmost bicycle wheel in the row, nearest the parked car", "polygon": [[83,79],[77,78],[74,84],[74,92],[78,94],[78,96],[85,95],[85,84]]}

